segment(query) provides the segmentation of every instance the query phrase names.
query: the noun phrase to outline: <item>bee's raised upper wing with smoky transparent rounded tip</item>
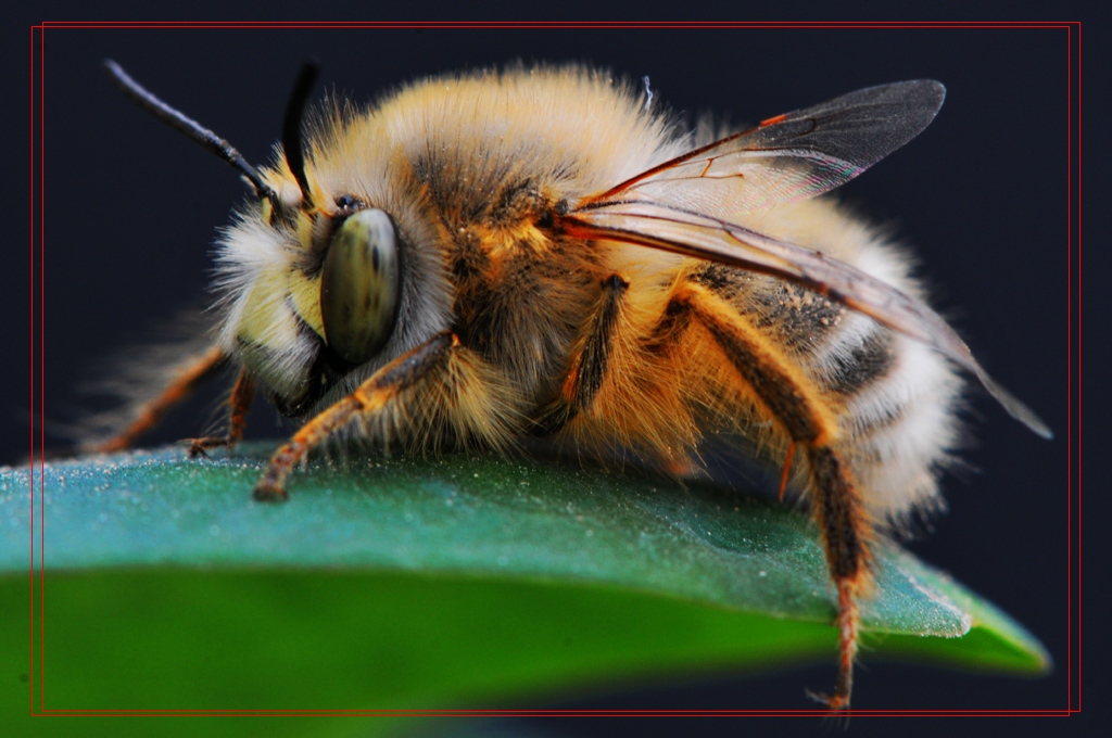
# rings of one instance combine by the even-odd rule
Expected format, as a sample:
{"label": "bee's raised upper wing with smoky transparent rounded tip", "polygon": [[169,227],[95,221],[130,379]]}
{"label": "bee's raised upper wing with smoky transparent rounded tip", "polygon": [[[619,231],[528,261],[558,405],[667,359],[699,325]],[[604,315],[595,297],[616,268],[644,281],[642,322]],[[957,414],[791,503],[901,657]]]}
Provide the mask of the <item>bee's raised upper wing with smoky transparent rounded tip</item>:
{"label": "bee's raised upper wing with smoky transparent rounded tip", "polygon": [[882,84],[784,113],[654,167],[579,202],[633,199],[741,213],[816,197],[888,156],[934,119],[946,88]]}

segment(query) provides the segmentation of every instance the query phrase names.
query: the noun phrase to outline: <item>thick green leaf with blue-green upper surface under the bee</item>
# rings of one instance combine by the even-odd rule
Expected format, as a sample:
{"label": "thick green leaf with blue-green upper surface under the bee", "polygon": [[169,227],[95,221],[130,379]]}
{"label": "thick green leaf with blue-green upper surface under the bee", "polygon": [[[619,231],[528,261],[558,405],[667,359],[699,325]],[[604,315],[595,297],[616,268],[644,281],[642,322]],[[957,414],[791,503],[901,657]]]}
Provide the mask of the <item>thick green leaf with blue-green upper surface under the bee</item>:
{"label": "thick green leaf with blue-green upper surface under the bee", "polygon": [[[464,457],[312,462],[289,502],[254,502],[269,450],[51,463],[41,500],[36,471],[47,709],[496,706],[623,677],[833,664],[834,595],[800,511]],[[0,627],[23,671],[30,486],[27,468],[0,473]],[[863,620],[870,659],[1050,662],[1007,616],[887,542]],[[281,725],[270,735],[305,731]]]}

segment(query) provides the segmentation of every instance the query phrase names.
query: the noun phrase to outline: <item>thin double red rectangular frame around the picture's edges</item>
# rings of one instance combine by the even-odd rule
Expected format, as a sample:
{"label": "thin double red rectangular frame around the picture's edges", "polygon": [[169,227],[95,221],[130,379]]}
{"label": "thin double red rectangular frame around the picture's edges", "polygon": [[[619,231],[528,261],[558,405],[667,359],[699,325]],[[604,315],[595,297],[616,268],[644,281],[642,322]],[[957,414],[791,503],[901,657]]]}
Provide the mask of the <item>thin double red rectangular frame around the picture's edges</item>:
{"label": "thin double red rectangular frame around the picture's edges", "polygon": [[[847,710],[847,715],[861,717],[1003,717],[1003,716],[1049,716],[1066,717],[1082,710],[1082,489],[1081,489],[1081,397],[1082,397],[1082,306],[1081,306],[1081,265],[1082,265],[1082,23],[1080,21],[923,21],[923,22],[745,22],[745,21],[692,21],[692,22],[529,22],[529,21],[454,21],[454,22],[250,22],[250,21],[212,21],[212,22],[147,22],[147,21],[89,21],[89,22],[42,22],[30,28],[30,458],[32,459],[29,488],[30,506],[30,571],[29,571],[29,605],[30,605],[30,678],[29,710],[34,717],[41,716],[367,716],[367,717],[739,717],[739,716],[826,716],[824,709],[812,710],[53,710],[44,705],[44,652],[46,652],[46,521],[42,515],[44,490],[41,480],[44,479],[44,461],[41,449],[44,447],[44,431],[37,422],[38,417],[44,417],[46,400],[43,389],[44,365],[44,134],[43,134],[43,100],[44,82],[44,36],[48,28],[54,29],[328,29],[328,28],[429,28],[429,29],[701,29],[701,28],[745,28],[745,29],[1056,29],[1068,31],[1068,150],[1069,150],[1069,233],[1068,233],[1068,269],[1069,269],[1069,426],[1066,429],[1068,462],[1066,470],[1069,489],[1076,493],[1068,500],[1069,511],[1069,602],[1068,602],[1068,707],[1062,710]],[[1074,41],[1076,34],[1076,41]],[[1076,166],[1074,166],[1076,162]],[[1076,228],[1074,230],[1074,218]],[[1076,247],[1074,250],[1074,241]],[[38,257],[38,258],[36,258]],[[36,263],[38,262],[38,282],[36,281]],[[1076,292],[1074,293],[1074,276],[1076,276]],[[38,295],[38,302],[36,302]],[[1074,317],[1076,316],[1076,317]],[[1074,322],[1074,320],[1076,322]],[[1074,343],[1073,333],[1078,338]],[[38,337],[38,355],[36,355],[36,337]],[[38,359],[38,363],[36,363]],[[1076,377],[1074,378],[1074,375]],[[36,392],[38,390],[38,393]],[[1075,399],[1074,399],[1075,398]],[[37,400],[37,402],[36,402]],[[1074,406],[1076,412],[1074,412]],[[38,447],[36,446],[36,428],[38,427]],[[1074,451],[1076,456],[1074,457]],[[1074,461],[1074,458],[1076,459]],[[36,649],[36,490],[34,460],[38,459],[39,471],[39,566],[38,566],[38,649]],[[1076,471],[1074,471],[1076,463]],[[1074,536],[1076,528],[1076,536]],[[1076,578],[1076,586],[1074,579]],[[1076,634],[1076,638],[1074,638]],[[38,659],[36,658],[38,656]],[[36,710],[36,664],[39,674],[39,709]]]}

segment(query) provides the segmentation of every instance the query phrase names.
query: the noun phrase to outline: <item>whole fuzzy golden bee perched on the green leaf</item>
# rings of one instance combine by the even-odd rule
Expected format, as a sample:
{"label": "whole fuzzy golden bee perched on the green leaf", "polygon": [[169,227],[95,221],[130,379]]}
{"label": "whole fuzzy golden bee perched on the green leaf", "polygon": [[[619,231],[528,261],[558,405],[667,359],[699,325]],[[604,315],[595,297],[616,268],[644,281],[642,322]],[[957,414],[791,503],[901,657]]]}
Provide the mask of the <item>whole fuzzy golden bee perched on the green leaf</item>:
{"label": "whole fuzzy golden bee perched on the green leaf", "polygon": [[931,80],[872,87],[715,139],[647,90],[582,67],[510,67],[413,83],[306,124],[306,66],[274,162],[107,62],[140,106],[229,162],[254,197],[218,246],[219,326],[135,420],[127,448],[224,366],[234,447],[257,390],[300,423],[257,500],[330,442],[514,449],[549,437],[674,475],[711,437],[782,470],[810,503],[837,596],[850,706],[871,549],[940,503],[961,370],[1017,420],[925,302],[906,255],[820,196],[917,136]]}

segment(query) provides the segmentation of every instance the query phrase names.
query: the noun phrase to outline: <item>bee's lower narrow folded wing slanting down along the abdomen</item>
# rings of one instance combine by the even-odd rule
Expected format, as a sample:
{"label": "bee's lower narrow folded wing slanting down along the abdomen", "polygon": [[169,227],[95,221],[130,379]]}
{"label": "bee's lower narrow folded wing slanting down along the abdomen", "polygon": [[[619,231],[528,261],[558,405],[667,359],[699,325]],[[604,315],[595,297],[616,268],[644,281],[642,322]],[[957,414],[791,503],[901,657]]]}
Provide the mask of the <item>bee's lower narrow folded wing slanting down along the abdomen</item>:
{"label": "bee's lower narrow folded wing slanting down along the abdomen", "polygon": [[596,201],[564,215],[562,228],[578,238],[637,243],[803,285],[942,352],[976,375],[1013,418],[1043,438],[1052,437],[1046,423],[996,383],[954,329],[926,303],[825,253],[652,201]]}

